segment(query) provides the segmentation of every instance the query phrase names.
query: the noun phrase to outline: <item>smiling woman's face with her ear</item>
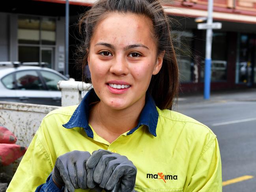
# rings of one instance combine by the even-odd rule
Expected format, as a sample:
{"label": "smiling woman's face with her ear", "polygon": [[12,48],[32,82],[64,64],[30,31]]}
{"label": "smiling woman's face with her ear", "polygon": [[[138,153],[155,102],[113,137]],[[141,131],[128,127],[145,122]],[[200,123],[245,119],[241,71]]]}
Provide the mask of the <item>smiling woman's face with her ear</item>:
{"label": "smiling woman's face with her ear", "polygon": [[136,14],[110,13],[93,33],[88,65],[95,93],[112,109],[143,104],[151,76],[159,72],[150,19]]}

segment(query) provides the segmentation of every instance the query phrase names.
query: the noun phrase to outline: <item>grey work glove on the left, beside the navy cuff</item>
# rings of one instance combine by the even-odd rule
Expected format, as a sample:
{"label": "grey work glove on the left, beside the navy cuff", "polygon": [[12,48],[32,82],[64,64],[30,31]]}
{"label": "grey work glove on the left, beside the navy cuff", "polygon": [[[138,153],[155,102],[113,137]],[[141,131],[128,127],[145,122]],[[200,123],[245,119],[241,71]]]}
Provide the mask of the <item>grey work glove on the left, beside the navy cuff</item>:
{"label": "grey work glove on the left, beside the navy cuff", "polygon": [[86,161],[91,156],[87,151],[71,151],[56,159],[52,170],[52,180],[65,185],[65,192],[87,189]]}

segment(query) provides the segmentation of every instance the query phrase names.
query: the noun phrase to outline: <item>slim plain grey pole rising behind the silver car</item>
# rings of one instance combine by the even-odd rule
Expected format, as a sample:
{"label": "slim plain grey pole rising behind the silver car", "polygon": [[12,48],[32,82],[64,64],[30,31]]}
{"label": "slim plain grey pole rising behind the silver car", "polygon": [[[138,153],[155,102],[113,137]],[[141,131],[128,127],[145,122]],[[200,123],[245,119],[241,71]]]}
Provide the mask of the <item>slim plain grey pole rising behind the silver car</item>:
{"label": "slim plain grey pole rising behind the silver car", "polygon": [[69,78],[69,0],[66,0],[65,76]]}

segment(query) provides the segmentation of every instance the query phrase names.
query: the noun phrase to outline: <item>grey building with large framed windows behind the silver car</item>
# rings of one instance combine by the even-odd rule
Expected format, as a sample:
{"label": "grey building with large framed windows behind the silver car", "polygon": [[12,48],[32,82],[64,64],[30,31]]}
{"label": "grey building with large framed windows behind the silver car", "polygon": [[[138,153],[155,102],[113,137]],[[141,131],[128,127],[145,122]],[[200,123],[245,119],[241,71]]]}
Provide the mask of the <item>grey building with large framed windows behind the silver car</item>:
{"label": "grey building with large framed windows behind the silver car", "polygon": [[[70,9],[72,26],[86,7],[71,4]],[[7,1],[0,6],[0,26],[0,62],[47,62],[47,67],[64,73],[65,4]]]}

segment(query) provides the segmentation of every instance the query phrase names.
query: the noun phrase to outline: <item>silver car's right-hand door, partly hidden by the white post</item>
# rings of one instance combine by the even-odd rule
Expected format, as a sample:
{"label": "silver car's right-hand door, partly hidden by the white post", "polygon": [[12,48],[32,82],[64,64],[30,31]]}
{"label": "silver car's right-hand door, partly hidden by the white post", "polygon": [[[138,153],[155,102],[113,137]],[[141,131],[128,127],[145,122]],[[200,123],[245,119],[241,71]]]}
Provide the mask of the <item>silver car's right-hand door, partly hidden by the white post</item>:
{"label": "silver car's right-hand door, partly hidden by the white post", "polygon": [[66,80],[62,76],[51,71],[40,70],[41,76],[52,97],[51,105],[61,106],[61,91],[57,88],[57,83],[61,80]]}

